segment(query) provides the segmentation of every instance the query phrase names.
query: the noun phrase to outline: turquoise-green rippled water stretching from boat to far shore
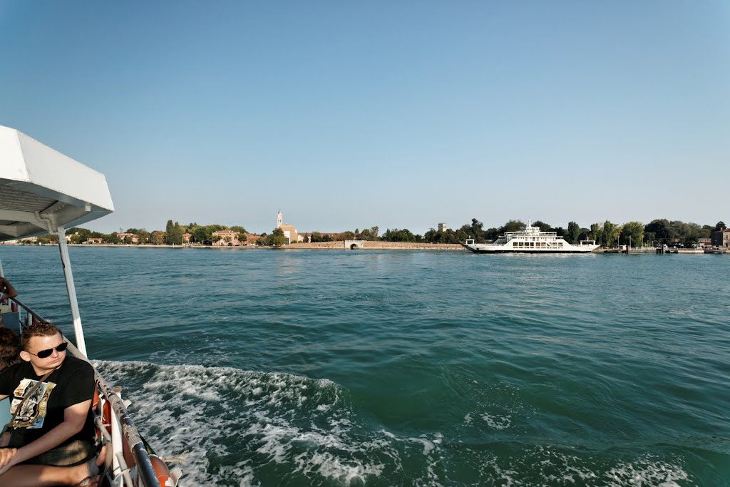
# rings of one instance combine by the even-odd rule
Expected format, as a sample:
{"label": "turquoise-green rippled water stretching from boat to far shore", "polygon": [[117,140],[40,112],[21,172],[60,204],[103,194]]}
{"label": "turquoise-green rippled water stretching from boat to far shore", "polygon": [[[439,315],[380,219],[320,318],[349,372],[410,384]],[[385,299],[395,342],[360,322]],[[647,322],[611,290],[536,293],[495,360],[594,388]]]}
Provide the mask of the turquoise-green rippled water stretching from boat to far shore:
{"label": "turquoise-green rippled water stretching from boat to far shore", "polygon": [[[188,486],[728,486],[730,257],[72,248]],[[55,248],[0,248],[70,331]]]}

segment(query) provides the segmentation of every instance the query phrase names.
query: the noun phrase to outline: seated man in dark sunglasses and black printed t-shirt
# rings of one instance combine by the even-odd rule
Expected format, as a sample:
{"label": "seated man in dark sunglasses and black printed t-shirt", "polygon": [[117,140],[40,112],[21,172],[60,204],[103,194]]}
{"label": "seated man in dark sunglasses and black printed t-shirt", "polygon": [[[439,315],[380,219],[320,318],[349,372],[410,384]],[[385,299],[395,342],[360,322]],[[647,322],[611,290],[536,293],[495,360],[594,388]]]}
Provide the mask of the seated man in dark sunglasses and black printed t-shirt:
{"label": "seated man in dark sunglasses and black printed t-shirt", "polygon": [[93,458],[93,367],[67,356],[67,347],[54,325],[28,326],[20,336],[22,362],[0,372],[0,399],[12,396],[12,407],[50,372],[16,414],[10,448],[0,448],[0,480],[17,464],[66,467]]}

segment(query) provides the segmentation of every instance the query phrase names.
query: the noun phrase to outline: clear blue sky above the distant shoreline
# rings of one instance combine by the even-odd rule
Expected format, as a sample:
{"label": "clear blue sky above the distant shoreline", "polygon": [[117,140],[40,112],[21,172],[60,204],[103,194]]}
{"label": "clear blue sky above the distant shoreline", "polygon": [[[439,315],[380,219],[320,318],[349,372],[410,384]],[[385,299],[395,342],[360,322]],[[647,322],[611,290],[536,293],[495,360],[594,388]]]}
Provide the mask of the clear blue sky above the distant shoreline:
{"label": "clear blue sky above the distant shoreline", "polygon": [[100,231],[730,220],[726,0],[0,0],[0,45]]}

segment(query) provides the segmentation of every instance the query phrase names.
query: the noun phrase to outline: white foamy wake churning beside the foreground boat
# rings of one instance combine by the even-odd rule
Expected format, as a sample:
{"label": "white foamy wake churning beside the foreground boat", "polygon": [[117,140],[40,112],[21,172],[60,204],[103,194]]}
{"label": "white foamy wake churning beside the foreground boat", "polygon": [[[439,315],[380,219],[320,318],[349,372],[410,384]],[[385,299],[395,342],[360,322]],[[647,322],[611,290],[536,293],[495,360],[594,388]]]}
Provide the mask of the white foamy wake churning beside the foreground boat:
{"label": "white foamy wake churning beside the foreground boat", "polygon": [[180,465],[184,486],[694,485],[680,458],[609,458],[457,434],[464,428],[508,432],[510,416],[475,411],[453,432],[411,437],[358,413],[347,391],[326,379],[223,367],[95,364],[110,383],[125,386],[129,411],[156,453],[187,459]]}

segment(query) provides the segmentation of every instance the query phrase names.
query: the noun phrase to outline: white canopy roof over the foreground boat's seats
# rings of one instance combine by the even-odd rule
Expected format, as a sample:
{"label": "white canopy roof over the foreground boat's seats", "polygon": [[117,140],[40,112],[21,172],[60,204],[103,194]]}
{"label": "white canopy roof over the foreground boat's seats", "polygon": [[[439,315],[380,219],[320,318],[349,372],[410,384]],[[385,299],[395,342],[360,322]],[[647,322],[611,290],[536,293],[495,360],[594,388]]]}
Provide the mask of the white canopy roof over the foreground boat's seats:
{"label": "white canopy roof over the foreground boat's seats", "polygon": [[104,175],[0,126],[0,241],[78,226],[113,211]]}

